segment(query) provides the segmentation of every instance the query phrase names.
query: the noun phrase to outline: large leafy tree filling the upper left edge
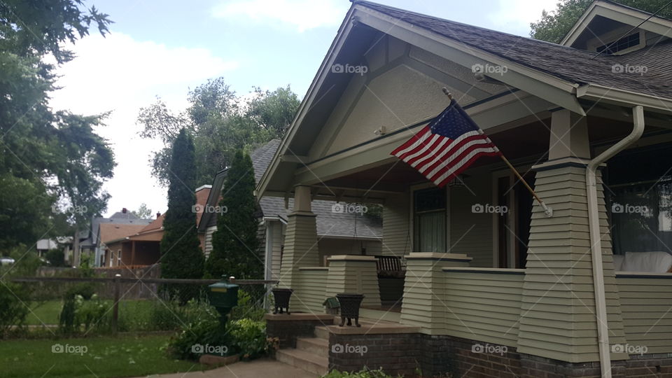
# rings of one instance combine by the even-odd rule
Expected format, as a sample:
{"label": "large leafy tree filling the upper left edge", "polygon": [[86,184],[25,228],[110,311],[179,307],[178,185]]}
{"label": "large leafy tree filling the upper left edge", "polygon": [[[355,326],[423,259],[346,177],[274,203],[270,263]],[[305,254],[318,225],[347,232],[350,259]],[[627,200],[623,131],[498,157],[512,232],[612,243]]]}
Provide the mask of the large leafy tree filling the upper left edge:
{"label": "large leafy tree filling the upper left edge", "polygon": [[55,223],[85,222],[106,208],[102,183],[114,157],[94,132],[106,114],[50,109],[56,66],[43,58],[68,62],[64,43],[92,24],[104,35],[109,23],[80,0],[0,1],[0,248],[32,244],[53,236]]}

